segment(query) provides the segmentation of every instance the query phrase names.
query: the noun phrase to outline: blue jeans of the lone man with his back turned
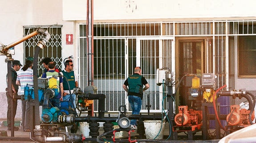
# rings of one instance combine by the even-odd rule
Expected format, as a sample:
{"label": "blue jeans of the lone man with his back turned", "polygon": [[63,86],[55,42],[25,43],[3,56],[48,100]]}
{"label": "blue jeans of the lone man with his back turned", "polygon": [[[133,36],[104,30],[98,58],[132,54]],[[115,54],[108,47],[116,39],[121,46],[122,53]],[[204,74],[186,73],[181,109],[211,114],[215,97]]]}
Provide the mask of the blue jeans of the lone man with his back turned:
{"label": "blue jeans of the lone man with his back turned", "polygon": [[[137,97],[137,96],[129,95],[128,96],[128,101],[129,101],[130,106],[132,108],[132,114],[138,115],[140,113],[141,105],[142,105],[141,98]],[[136,120],[131,120],[130,124],[131,125],[136,125]]]}

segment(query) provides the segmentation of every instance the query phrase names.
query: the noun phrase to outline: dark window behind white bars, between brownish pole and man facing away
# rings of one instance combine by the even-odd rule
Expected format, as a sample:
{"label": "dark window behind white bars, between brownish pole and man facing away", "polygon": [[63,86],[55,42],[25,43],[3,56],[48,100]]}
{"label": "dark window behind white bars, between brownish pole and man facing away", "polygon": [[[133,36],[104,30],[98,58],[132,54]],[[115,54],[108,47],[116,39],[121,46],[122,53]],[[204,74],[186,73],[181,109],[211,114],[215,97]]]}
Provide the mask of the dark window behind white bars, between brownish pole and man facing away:
{"label": "dark window behind white bars, between brownish pole and man facing away", "polygon": [[125,40],[94,40],[94,77],[105,78],[124,76]]}

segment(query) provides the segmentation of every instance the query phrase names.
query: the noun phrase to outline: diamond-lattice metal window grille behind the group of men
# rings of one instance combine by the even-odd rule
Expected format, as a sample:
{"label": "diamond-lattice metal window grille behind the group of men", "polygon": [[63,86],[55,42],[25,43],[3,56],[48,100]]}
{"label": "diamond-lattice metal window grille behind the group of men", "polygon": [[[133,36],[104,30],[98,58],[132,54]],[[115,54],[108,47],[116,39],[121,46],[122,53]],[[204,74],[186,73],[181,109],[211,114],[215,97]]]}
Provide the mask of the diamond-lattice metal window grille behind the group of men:
{"label": "diamond-lattice metal window grille behind the group of men", "polygon": [[[61,58],[61,27],[62,25],[56,26],[24,26],[24,36],[36,31],[37,27],[46,29],[50,34],[49,42],[47,46],[43,48],[38,55],[38,62],[45,57],[49,57],[56,62],[56,68],[61,70],[62,58]],[[24,60],[28,56],[34,55],[34,47],[37,45],[38,41],[41,40],[42,35],[36,35],[32,38],[24,41]],[[38,75],[43,73],[43,64],[38,64]]]}

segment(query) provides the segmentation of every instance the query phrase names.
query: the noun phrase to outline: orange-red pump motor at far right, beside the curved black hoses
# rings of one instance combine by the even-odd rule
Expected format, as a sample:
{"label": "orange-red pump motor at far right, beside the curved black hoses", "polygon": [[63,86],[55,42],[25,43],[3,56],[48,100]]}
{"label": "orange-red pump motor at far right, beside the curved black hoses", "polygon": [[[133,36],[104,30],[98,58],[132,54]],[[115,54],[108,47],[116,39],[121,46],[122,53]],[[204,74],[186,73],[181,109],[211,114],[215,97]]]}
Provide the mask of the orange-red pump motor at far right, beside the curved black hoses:
{"label": "orange-red pump motor at far right, beside the curved black hoses", "polygon": [[[250,110],[240,109],[239,105],[231,105],[231,112],[227,116],[228,125],[237,126],[237,125],[250,125],[249,113]],[[251,119],[254,120],[254,111],[252,112]]]}

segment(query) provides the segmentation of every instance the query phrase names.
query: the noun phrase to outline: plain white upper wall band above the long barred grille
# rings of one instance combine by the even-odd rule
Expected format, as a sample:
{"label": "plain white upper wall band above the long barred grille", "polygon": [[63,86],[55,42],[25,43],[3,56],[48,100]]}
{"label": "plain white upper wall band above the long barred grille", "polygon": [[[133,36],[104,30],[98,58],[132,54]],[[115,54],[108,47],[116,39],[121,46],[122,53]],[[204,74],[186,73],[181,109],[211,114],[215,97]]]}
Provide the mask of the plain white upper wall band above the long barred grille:
{"label": "plain white upper wall band above the long barred grille", "polygon": [[[86,0],[63,0],[64,20],[85,20]],[[255,0],[93,0],[94,20],[256,16]]]}

